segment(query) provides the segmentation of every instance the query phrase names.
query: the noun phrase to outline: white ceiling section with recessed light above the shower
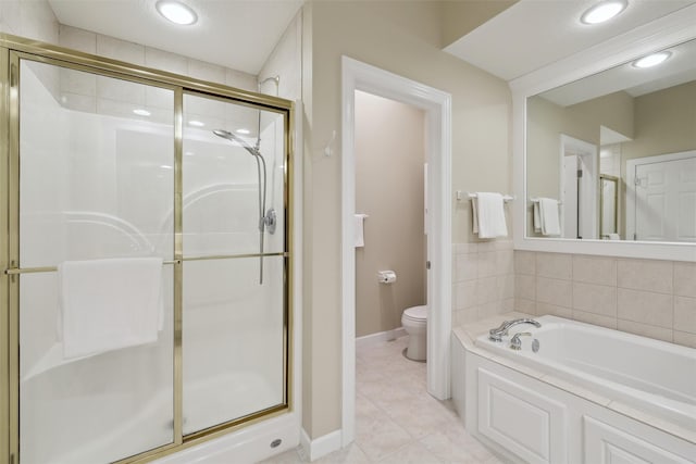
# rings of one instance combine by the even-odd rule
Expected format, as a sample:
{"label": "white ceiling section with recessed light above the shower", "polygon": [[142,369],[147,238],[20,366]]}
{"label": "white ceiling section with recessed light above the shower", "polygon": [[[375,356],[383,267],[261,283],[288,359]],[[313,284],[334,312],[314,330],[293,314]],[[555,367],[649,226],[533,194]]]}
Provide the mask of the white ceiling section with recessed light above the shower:
{"label": "white ceiling section with recessed light above the shower", "polygon": [[191,26],[159,15],[157,0],[49,0],[59,23],[258,75],[302,0],[184,0]]}

